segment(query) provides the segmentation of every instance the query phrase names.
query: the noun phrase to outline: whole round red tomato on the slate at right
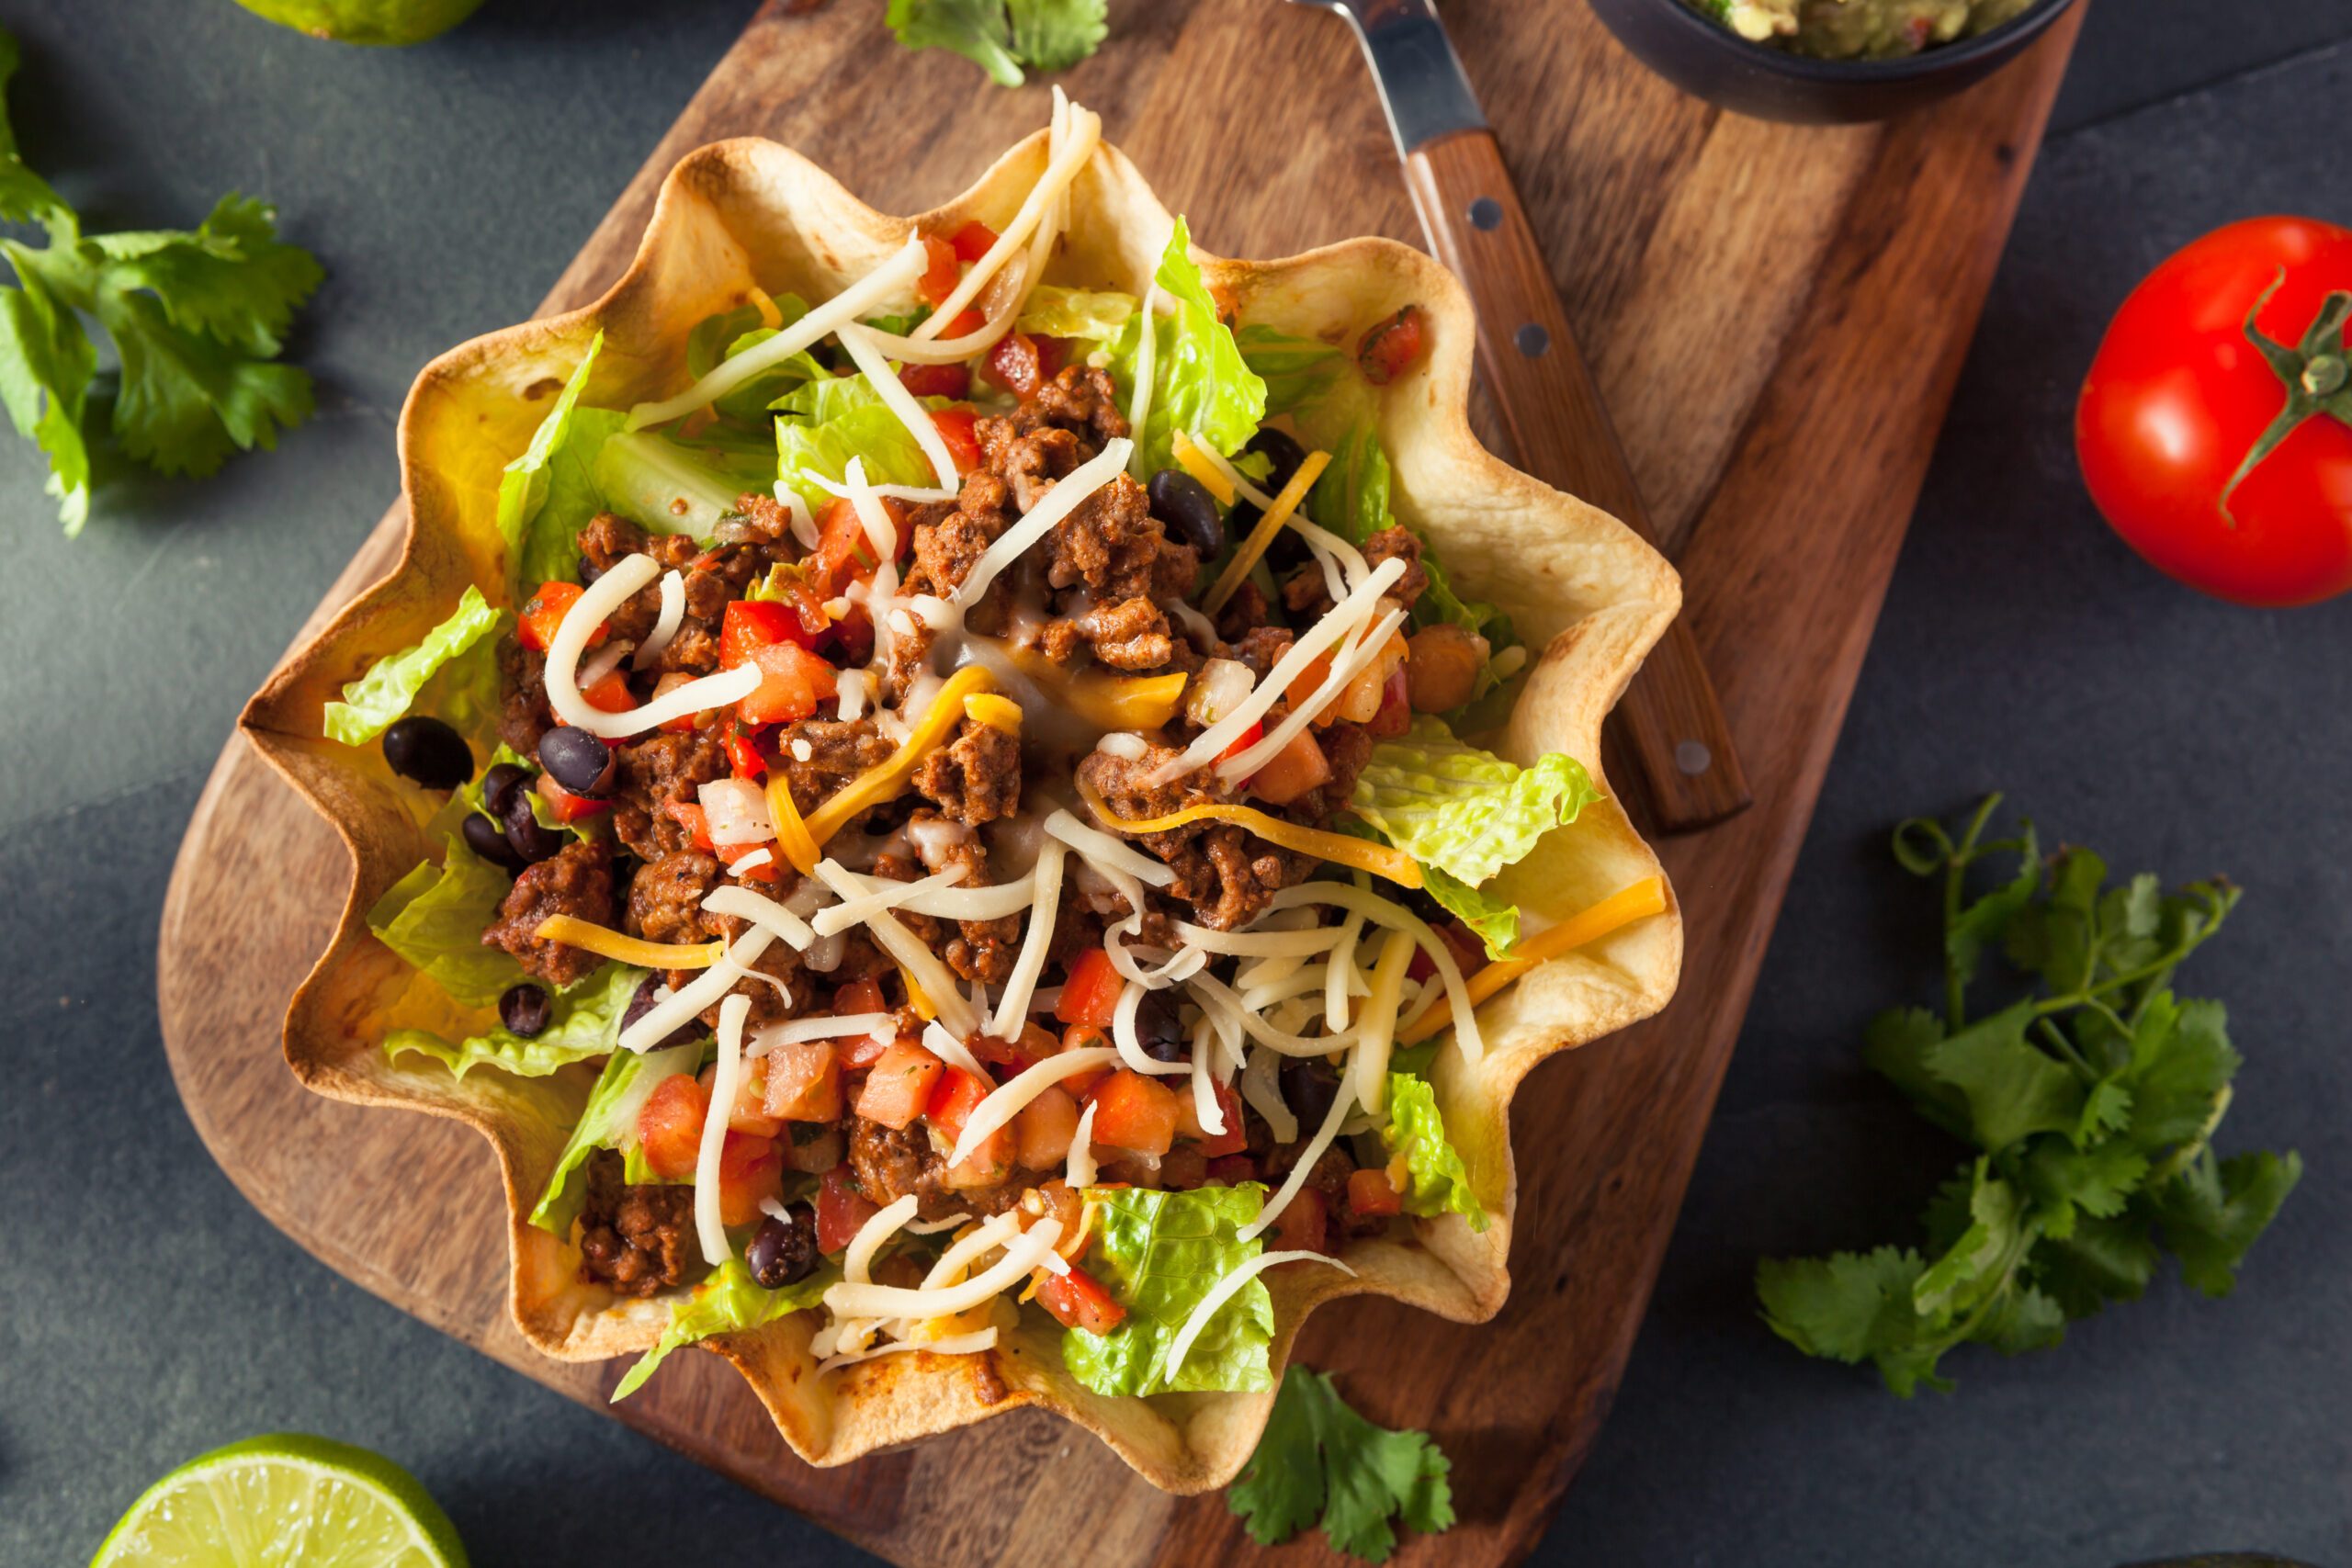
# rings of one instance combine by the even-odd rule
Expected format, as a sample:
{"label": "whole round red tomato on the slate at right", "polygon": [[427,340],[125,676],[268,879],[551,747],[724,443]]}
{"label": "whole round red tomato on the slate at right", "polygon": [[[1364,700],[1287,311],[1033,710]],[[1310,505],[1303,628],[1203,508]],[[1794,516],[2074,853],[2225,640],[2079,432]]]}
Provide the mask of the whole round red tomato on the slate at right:
{"label": "whole round red tomato on the slate at right", "polygon": [[2260,454],[2288,386],[2246,327],[2251,313],[2288,346],[2303,381],[2343,381],[2345,331],[2296,348],[2338,289],[2352,289],[2352,230],[2249,219],[2171,256],[2117,310],[2074,454],[2107,524],[2159,571],[2265,607],[2352,588],[2352,428],[2319,411]]}

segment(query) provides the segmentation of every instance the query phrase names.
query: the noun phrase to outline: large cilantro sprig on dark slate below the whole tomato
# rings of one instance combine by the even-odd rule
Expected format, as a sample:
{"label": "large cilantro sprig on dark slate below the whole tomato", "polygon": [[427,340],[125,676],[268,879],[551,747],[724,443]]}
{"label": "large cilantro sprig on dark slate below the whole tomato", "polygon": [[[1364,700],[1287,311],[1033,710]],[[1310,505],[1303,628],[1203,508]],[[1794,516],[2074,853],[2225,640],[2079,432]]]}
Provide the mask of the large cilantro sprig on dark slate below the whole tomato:
{"label": "large cilantro sprig on dark slate below the whole tomato", "polygon": [[[2089,849],[2044,860],[2032,823],[1985,839],[1987,797],[1959,842],[1940,823],[1896,830],[1915,877],[1943,879],[1943,1013],[1872,1020],[1863,1060],[1922,1117],[1976,1147],[1924,1215],[1924,1248],[1766,1258],[1771,1331],[1811,1356],[1872,1361],[1886,1387],[1950,1392],[1957,1345],[2046,1349],[2070,1319],[2138,1298],[2164,1251],[2206,1295],[2237,1267],[2303,1175],[2303,1159],[2223,1159],[2239,1053],[2218,1001],[2180,999],[2173,971],[2237,907],[2225,879],[2164,893],[2152,875],[2107,886]],[[2009,860],[1971,896],[1980,863]],[[1969,1011],[1990,952],[2030,980]]]}

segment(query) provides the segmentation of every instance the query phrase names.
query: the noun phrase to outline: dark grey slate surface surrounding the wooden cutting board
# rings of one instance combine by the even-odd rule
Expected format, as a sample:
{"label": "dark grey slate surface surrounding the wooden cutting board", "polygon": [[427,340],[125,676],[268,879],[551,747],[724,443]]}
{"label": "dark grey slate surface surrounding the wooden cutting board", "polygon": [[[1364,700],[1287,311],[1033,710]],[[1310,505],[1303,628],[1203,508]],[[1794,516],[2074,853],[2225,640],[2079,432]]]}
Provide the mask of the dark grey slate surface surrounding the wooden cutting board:
{"label": "dark grey slate surface surrounding the wooden cutting board", "polygon": [[[294,341],[322,411],[275,456],[111,484],[66,543],[31,449],[0,440],[0,1563],[85,1561],[146,1481],[285,1427],[416,1469],[485,1566],[868,1561],[315,1265],[214,1168],[155,1034],[181,825],[395,491],[409,376],[532,308],[748,9],[492,0],[386,54],[226,0],[0,5],[26,153],[92,223],[193,223],[245,188],[329,266]],[[2093,5],[1656,1307],[1538,1561],[2352,1561],[2352,599],[2249,614],[2173,588],[2098,524],[2067,440],[2145,268],[2265,209],[2352,219],[2347,42],[2352,0]],[[2230,999],[2249,1056],[2227,1143],[2300,1147],[2310,1175],[2237,1298],[2166,1279],[2056,1354],[1966,1352],[1957,1396],[1898,1403],[1771,1340],[1748,1276],[1764,1251],[1907,1237],[1955,1159],[1856,1041],[1931,990],[1884,830],[1985,788],[2126,870],[2246,884],[2190,983]]]}

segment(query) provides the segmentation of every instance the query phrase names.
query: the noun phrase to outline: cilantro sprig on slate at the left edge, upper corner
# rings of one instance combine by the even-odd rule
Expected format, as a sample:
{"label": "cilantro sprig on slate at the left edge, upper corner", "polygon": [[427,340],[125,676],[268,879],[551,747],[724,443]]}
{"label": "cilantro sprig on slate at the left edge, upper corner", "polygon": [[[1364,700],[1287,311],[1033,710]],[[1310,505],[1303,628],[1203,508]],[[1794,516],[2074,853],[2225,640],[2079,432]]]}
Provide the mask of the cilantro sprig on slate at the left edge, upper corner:
{"label": "cilantro sprig on slate at the left edge, upper corner", "polygon": [[[16,73],[0,31],[0,92]],[[80,214],[26,167],[0,106],[0,219],[38,223],[47,247],[0,237],[16,287],[0,287],[0,402],[49,458],[66,534],[89,520],[94,317],[115,346],[108,428],[158,473],[207,475],[233,449],[275,447],[308,418],[310,376],[278,364],[285,334],[320,284],[310,252],[278,240],[266,202],[223,195],[193,230],[85,235]]]}

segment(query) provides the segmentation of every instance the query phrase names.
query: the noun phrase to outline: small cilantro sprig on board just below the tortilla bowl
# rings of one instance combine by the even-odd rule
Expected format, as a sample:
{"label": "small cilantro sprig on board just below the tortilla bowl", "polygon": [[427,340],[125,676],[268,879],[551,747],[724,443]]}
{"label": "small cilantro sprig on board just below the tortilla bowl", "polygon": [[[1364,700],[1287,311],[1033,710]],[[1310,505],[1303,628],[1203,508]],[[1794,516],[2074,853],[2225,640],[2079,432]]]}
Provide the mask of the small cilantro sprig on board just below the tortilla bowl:
{"label": "small cilantro sprig on board just below the tortilla bowl", "polygon": [[1383,1563],[1397,1549],[1390,1519],[1423,1535],[1454,1528],[1449,1472],[1428,1432],[1376,1427],[1348,1408],[1327,1373],[1291,1366],[1225,1502],[1261,1547],[1319,1521],[1336,1552]]}

